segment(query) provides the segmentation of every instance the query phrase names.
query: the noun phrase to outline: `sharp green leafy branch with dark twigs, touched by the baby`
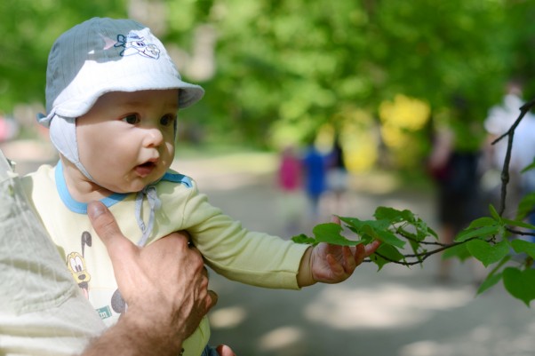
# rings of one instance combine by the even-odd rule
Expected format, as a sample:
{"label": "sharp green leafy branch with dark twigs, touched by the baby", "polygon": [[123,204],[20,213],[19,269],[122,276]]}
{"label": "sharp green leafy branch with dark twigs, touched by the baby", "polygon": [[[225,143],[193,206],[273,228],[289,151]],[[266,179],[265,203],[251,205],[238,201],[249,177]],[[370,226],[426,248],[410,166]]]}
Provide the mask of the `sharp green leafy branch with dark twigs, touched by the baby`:
{"label": "sharp green leafy branch with dark twigs, touched by the baby", "polygon": [[[478,289],[478,294],[490,289],[499,281],[503,281],[507,292],[513,297],[530,306],[535,299],[535,242],[521,239],[521,236],[535,236],[535,225],[523,221],[535,207],[535,192],[526,194],[518,204],[515,219],[503,218],[509,181],[509,161],[513,147],[513,138],[518,123],[521,122],[531,107],[535,106],[535,99],[520,108],[520,115],[509,130],[500,139],[508,138],[507,153],[505,155],[501,173],[502,189],[499,211],[490,205],[490,216],[477,218],[462,230],[451,244],[441,244],[436,233],[420,218],[409,210],[395,210],[379,207],[373,217],[375,220],[360,220],[358,218],[340,218],[348,230],[359,237],[350,241],[341,235],[342,227],[332,227],[335,224],[315,226],[314,237],[299,235],[293,241],[317,244],[327,242],[339,245],[356,245],[381,241],[381,246],[371,255],[371,262],[379,265],[379,269],[387,263],[400,265],[421,264],[427,257],[437,252],[444,252],[444,258],[458,257],[464,260],[475,257],[491,272],[487,275]],[[533,162],[523,169],[523,172],[535,170]],[[411,253],[406,253],[406,245]],[[432,249],[427,249],[432,246]]]}

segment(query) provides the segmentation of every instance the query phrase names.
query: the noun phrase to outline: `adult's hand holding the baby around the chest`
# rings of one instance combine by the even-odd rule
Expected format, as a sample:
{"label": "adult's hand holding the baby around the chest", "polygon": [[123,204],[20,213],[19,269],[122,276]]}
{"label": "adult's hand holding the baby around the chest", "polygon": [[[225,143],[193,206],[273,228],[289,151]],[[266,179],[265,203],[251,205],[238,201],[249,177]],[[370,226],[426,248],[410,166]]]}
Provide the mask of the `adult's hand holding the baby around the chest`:
{"label": "adult's hand holding the baby around the chest", "polygon": [[124,237],[101,202],[89,203],[87,213],[108,249],[128,305],[119,322],[127,320],[138,329],[136,340],[152,338],[147,347],[156,348],[146,354],[172,354],[171,349],[179,354],[182,341],[217,302],[217,295],[207,289],[202,257],[188,247],[184,233],[172,233],[141,249]]}

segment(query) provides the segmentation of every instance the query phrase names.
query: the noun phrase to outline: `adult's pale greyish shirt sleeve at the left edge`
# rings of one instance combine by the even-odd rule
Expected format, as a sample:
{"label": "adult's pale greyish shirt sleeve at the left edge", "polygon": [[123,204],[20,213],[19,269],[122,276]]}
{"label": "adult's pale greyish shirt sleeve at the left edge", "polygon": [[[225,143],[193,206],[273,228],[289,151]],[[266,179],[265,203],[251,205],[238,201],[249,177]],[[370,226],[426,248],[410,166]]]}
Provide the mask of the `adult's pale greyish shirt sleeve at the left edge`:
{"label": "adult's pale greyish shirt sleeve at the left edge", "polygon": [[0,354],[81,352],[104,324],[27,200],[33,181],[3,162],[0,152]]}

